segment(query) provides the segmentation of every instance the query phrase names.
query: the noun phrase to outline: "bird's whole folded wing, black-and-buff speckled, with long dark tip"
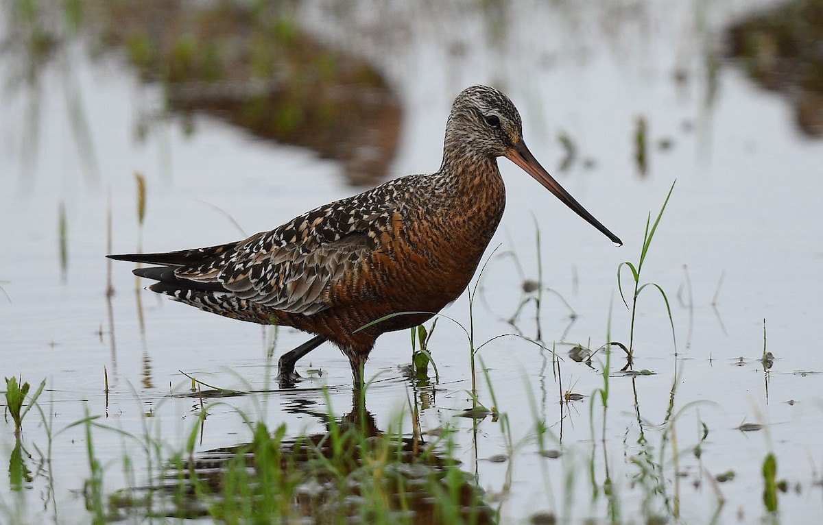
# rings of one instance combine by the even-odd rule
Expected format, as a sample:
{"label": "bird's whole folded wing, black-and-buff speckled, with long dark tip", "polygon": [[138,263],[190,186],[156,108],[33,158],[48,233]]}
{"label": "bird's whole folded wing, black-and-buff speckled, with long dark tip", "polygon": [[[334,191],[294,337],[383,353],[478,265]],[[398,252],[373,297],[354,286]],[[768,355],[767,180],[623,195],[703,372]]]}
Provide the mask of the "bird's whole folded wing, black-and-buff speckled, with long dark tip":
{"label": "bird's whole folded wing, black-and-buff speckled, with long dark tip", "polygon": [[[425,175],[406,179],[412,177],[421,192],[430,191]],[[382,249],[380,239],[392,230],[393,213],[405,202],[395,193],[401,180],[308,211],[276,230],[234,244],[114,258],[167,264],[173,267],[175,286],[185,287],[189,281],[193,289],[226,290],[267,309],[316,314],[332,306],[328,292],[346,272],[368,264]]]}

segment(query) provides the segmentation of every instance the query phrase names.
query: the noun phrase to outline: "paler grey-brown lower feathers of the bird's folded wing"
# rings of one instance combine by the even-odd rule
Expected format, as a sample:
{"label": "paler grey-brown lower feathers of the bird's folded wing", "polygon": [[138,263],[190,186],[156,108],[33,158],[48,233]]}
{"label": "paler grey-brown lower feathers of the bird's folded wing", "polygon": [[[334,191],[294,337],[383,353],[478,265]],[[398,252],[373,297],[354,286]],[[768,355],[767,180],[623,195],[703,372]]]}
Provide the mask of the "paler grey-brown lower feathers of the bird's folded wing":
{"label": "paler grey-brown lower feathers of the bird's folded wing", "polygon": [[220,282],[239,299],[292,314],[317,314],[331,306],[329,290],[347,270],[367,258],[376,243],[365,232],[321,242],[302,239],[283,245],[264,232],[240,241],[237,248],[198,267],[175,274],[198,282]]}

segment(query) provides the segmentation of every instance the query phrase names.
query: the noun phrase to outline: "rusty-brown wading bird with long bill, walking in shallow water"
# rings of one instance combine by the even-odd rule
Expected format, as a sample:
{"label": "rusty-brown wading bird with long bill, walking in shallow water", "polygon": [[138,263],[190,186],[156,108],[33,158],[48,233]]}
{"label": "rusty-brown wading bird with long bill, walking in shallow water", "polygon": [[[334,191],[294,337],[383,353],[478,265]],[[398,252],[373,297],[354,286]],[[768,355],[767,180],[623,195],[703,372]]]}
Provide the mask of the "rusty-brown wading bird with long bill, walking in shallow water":
{"label": "rusty-brown wading bird with long bill, walking in shallow water", "polygon": [[379,335],[424,323],[465,290],[503,216],[500,156],[621,244],[528,151],[509,97],[472,86],[453,102],[434,174],[388,181],[234,243],[109,258],[159,265],[134,273],[181,303],[315,334],[281,356],[281,380],[299,379],[296,361],[332,341],[360,386]]}

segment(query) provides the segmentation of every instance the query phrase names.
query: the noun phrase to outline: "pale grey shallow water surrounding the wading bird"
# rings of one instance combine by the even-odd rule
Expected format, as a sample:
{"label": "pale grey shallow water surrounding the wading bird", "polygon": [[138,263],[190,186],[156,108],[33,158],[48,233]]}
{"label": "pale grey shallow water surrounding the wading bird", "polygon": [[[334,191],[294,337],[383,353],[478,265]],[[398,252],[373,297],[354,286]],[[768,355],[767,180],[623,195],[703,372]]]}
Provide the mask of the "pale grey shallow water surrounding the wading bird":
{"label": "pale grey shallow water surrounding the wading bird", "polygon": [[[721,45],[728,22],[756,6],[626,2],[622,9],[579,9],[523,2],[504,11],[500,7],[501,12],[463,4],[404,12],[404,7],[377,3],[380,23],[370,15],[370,2],[345,16],[312,3],[299,17],[329,44],[370,58],[397,89],[402,134],[389,177],[435,170],[453,96],[472,83],[491,83],[518,105],[535,156],[625,244],[611,246],[501,160],[509,206],[492,241],[500,249],[486,267],[474,304],[475,338],[482,342],[517,330],[535,337],[532,304],[516,327],[504,322],[522,298],[522,278],[513,258],[500,254],[516,253],[525,277],[536,279],[536,221],[543,281],[576,314],[570,323],[569,310],[545,292],[542,339],[548,346],[556,342],[564,360],[556,376],[549,352],[516,337],[496,339],[479,351],[496,402],[482,376],[480,398],[508,416],[515,444],[508,461],[489,461],[509,453],[504,434],[486,419],[477,425],[475,438],[472,420],[455,417],[471,404],[465,392],[470,388],[468,345],[462,329],[442,319],[430,342],[440,382],[421,413],[424,429],[458,426],[458,458],[500,502],[504,523],[521,522],[537,511],[571,523],[588,517],[605,521],[604,499],[590,503],[590,460],[598,483],[606,472],[615,480],[623,520],[639,521],[633,517],[641,496],[648,494],[643,484],[651,482],[638,478],[645,458],[663,465],[661,483],[667,495],[679,495],[684,523],[708,523],[718,509],[718,493],[726,502],[719,523],[755,523],[765,515],[760,468],[770,451],[777,458],[778,478],[789,488],[779,494],[778,519],[816,523],[823,515],[818,446],[823,363],[816,351],[816,325],[823,318],[823,142],[798,130],[787,100],[763,91],[734,63],[721,62],[710,74],[704,58],[706,49]],[[701,10],[709,13],[695,15]],[[273,332],[264,335],[259,327],[140,291],[128,263],[112,266],[116,293],[109,318],[103,257],[109,199],[114,252],[133,252],[141,238],[146,251],[163,251],[268,230],[358,189],[346,184],[341,167],[331,160],[263,142],[206,116],[194,118],[193,133],[172,117],[138,140],[142,115],[161,109],[159,88],[142,84],[116,57],[92,63],[79,45],[68,53],[71,67],[47,67],[39,93],[9,89],[3,95],[0,284],[9,299],[0,295],[0,368],[4,375],[33,383],[47,379],[40,401],[55,428],[87,410],[137,434],[148,425],[148,432],[180,446],[200,407],[190,397],[169,397],[170,391],[188,392],[190,381],[183,373],[223,388],[274,388],[272,369],[266,367]],[[678,71],[685,80],[674,80]],[[32,100],[40,108],[37,122],[27,112]],[[77,108],[91,150],[82,146],[71,116]],[[645,174],[639,173],[634,153],[640,115],[648,130]],[[31,130],[37,137],[33,146],[26,142]],[[579,153],[565,172],[559,170],[561,132]],[[662,139],[672,146],[662,149]],[[27,156],[26,148],[34,153]],[[145,175],[148,190],[142,232],[136,170]],[[593,428],[589,414],[591,396],[603,385],[598,364],[603,358],[595,358],[594,369],[574,363],[565,356],[570,347],[565,343],[594,349],[610,334],[611,340],[628,344],[630,314],[616,289],[616,268],[622,261],[637,261],[647,214],[657,213],[674,180],[643,277],[667,292],[677,346],[663,301],[655,290],[645,290],[635,327],[635,369],[655,374],[634,379],[617,374],[625,361],[620,351],[612,353],[601,434],[599,405]],[[61,203],[67,222],[65,276],[59,262]],[[629,272],[623,280],[626,286]],[[444,314],[467,326],[467,296]],[[759,361],[764,319],[765,344],[776,358],[768,373]],[[279,330],[276,355],[305,339],[291,329]],[[411,386],[398,365],[410,359],[408,339],[406,332],[381,337],[366,369],[379,378],[366,406],[381,428],[407,404]],[[300,383],[296,392],[229,397],[212,408],[198,449],[248,441],[238,410],[270,425],[285,422],[295,433],[320,430],[322,421],[308,412],[324,410],[323,385],[333,411],[349,411],[345,358],[321,346],[300,363],[301,372],[308,368],[321,369],[322,378]],[[673,384],[675,440],[667,434],[669,440],[661,444]],[[566,390],[586,397],[560,403]],[[537,455],[533,411],[561,439],[561,444],[549,439],[551,448],[563,451],[560,458]],[[765,426],[743,432],[737,427],[744,422]],[[709,434],[698,459],[688,448],[700,441],[701,423]],[[13,446],[13,427],[5,428],[3,453]],[[26,444],[42,447],[40,418],[31,414],[24,431]],[[131,442],[114,432],[94,437],[95,454],[107,467],[107,490],[123,486],[116,458]],[[673,446],[683,452],[677,463]],[[36,478],[21,500],[0,496],[0,510],[25,506],[20,513],[2,515],[22,515],[30,523],[86,523],[77,495],[89,476],[81,428],[54,439],[52,467],[56,503],[43,503],[44,481]],[[732,481],[712,481],[729,470],[735,472]],[[573,481],[567,483],[567,476]]]}

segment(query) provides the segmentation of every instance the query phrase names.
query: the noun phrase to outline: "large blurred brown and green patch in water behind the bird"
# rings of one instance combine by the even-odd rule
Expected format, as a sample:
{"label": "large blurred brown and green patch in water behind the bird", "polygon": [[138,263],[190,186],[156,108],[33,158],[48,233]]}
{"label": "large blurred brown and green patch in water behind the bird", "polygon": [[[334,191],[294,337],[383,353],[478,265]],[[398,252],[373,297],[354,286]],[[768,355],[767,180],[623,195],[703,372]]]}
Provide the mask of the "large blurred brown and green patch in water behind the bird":
{"label": "large blurred brown and green patch in water behind the bird", "polygon": [[89,3],[101,42],[125,49],[145,81],[160,81],[170,109],[308,147],[340,161],[351,184],[386,174],[396,96],[365,60],[296,26],[291,2]]}

